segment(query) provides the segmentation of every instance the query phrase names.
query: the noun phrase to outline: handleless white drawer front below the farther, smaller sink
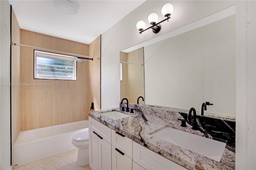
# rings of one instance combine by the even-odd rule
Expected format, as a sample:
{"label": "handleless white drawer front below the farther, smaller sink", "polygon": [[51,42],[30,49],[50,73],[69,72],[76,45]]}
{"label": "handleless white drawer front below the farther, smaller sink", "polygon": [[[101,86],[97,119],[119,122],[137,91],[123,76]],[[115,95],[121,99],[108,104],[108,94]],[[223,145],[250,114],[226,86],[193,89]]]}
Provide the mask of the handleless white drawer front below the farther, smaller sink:
{"label": "handleless white drawer front below the farther, smaller sink", "polygon": [[111,129],[89,117],[89,128],[111,144]]}

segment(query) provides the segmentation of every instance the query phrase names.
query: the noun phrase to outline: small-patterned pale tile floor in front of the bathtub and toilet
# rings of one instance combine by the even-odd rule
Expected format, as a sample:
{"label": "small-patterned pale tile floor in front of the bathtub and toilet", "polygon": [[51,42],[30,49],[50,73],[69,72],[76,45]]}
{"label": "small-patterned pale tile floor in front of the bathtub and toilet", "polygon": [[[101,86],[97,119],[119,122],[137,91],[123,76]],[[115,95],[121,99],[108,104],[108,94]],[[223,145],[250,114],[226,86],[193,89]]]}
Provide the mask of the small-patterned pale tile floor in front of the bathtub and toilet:
{"label": "small-patterned pale tile floor in front of the bathtub and toilet", "polygon": [[[78,149],[69,150],[56,154],[29,164],[13,168],[14,170],[90,170],[88,166],[77,166],[75,164]],[[63,168],[61,168],[63,167]]]}

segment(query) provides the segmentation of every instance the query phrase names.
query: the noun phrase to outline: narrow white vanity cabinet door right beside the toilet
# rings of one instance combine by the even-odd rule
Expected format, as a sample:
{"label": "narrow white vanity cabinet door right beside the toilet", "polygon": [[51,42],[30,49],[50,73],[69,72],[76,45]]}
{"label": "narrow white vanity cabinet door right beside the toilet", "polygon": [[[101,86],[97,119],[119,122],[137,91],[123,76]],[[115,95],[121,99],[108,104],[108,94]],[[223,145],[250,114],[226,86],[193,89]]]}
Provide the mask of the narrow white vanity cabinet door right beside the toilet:
{"label": "narrow white vanity cabinet door right beside the toilet", "polygon": [[98,136],[89,128],[89,164],[93,170],[101,169]]}

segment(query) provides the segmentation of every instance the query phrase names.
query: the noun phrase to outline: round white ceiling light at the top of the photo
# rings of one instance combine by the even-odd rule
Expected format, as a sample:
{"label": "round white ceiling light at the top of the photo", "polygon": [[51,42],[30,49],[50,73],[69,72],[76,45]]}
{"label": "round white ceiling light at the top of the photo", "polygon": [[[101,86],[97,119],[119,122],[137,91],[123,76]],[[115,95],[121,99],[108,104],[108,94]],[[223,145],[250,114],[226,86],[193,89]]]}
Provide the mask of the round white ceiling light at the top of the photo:
{"label": "round white ceiling light at the top of the photo", "polygon": [[53,5],[64,14],[74,15],[78,12],[78,4],[74,0],[54,0]]}

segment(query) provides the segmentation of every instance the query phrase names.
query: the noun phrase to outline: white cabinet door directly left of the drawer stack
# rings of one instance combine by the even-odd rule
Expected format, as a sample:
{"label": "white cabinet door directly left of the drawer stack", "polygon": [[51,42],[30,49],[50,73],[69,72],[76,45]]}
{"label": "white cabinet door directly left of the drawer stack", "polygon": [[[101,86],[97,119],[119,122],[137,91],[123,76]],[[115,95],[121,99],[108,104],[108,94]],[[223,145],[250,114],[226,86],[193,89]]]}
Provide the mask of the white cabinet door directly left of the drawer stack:
{"label": "white cabinet door directly left of the drawer stack", "polygon": [[97,170],[111,170],[111,144],[104,139],[98,138],[98,147],[101,167]]}

